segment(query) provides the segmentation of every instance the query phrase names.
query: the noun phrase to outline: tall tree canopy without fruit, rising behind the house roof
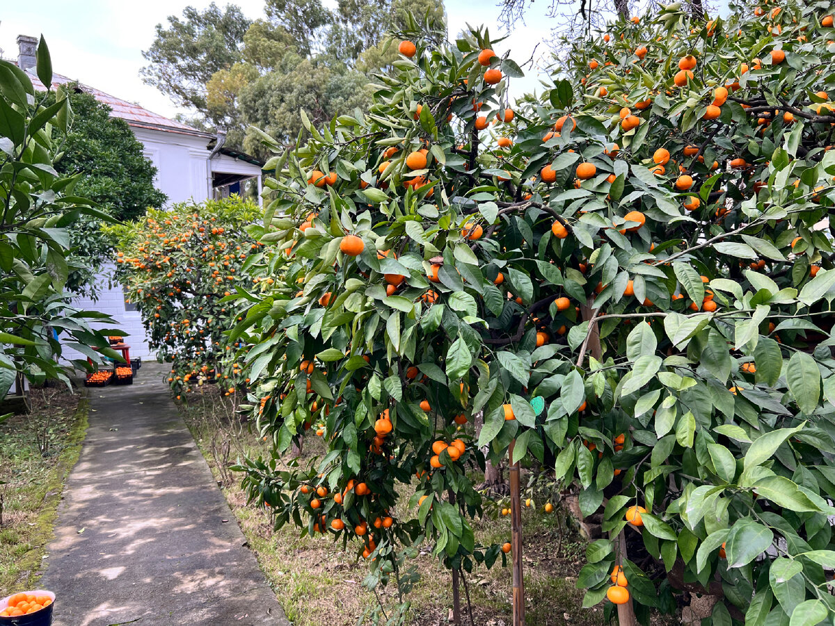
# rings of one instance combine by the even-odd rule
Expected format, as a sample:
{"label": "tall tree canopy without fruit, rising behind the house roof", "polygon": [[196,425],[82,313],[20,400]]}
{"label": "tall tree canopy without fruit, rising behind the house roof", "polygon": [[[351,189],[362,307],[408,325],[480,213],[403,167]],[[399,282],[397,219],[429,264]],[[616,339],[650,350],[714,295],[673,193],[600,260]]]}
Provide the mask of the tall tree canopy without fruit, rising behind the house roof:
{"label": "tall tree canopy without fruit, rising behind the house roof", "polygon": [[383,35],[407,26],[408,15],[445,28],[443,0],[265,0],[264,17],[212,4],[168,18],[145,58],[145,81],[196,111],[196,123],[226,130],[227,143],[263,149],[254,125],[285,144],[295,141],[305,107],[319,125],[337,110],[365,109],[368,77],[389,68],[397,46]]}

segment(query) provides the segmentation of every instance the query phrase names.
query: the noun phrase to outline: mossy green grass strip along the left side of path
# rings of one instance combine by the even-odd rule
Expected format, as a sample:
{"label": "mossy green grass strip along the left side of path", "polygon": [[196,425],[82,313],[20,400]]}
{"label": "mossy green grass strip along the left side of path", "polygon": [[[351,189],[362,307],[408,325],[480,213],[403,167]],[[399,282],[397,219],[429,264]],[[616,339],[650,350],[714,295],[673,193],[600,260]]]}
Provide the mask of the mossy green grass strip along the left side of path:
{"label": "mossy green grass strip along the left side of path", "polygon": [[63,482],[87,432],[87,401],[33,389],[33,411],[0,424],[0,597],[34,588],[53,535]]}

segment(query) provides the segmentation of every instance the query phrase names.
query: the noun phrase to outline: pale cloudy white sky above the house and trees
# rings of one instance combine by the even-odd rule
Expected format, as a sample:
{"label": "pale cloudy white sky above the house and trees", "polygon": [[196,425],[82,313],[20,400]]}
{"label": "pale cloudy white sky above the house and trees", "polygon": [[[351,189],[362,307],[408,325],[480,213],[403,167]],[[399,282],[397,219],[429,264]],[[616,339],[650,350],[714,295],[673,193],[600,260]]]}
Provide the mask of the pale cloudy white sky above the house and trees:
{"label": "pale cloudy white sky above the house and trees", "polygon": [[[264,0],[233,0],[248,18],[263,15]],[[333,2],[333,0],[330,0]],[[328,0],[326,0],[328,3]],[[169,15],[181,16],[186,6],[205,8],[210,0],[144,0],[126,3],[119,0],[40,0],[40,2],[4,2],[0,8],[0,49],[3,58],[17,58],[18,34],[37,37],[43,33],[57,73],[99,88],[118,98],[139,103],[145,109],[173,117],[180,111],[170,99],[139,78],[139,69],[147,63],[142,50],[154,40],[154,27],[166,23]],[[225,0],[218,2],[220,6]],[[509,38],[495,48],[498,53],[511,49],[514,60],[522,63],[531,57],[534,46],[549,38],[553,20],[545,18],[546,3],[534,3],[517,24]],[[491,37],[501,33],[495,0],[446,0],[449,32],[454,37],[466,23],[490,27]],[[540,55],[546,50],[540,44]],[[537,88],[536,71],[515,79],[514,94]]]}

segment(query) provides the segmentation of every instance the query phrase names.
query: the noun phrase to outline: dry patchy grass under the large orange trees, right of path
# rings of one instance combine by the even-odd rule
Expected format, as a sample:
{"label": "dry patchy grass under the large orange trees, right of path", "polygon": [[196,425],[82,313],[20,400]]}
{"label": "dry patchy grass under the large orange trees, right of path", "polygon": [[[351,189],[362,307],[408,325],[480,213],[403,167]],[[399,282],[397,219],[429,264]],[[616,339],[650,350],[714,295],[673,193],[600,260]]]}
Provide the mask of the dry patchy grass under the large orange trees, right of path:
{"label": "dry patchy grass under the large orange trees, right of path", "polygon": [[[330,538],[300,538],[299,530],[291,525],[274,531],[268,513],[246,505],[240,477],[226,469],[242,454],[266,454],[266,445],[248,432],[228,402],[211,388],[205,390],[202,398],[192,396],[190,405],[180,407],[287,618],[294,626],[354,626],[367,609],[377,604],[373,594],[361,586],[367,565],[357,563],[356,545],[349,543],[347,551],[343,551],[342,543],[333,543]],[[311,437],[305,446],[304,457],[321,454],[322,444],[316,437]],[[489,507],[485,517],[473,522],[477,541],[509,541],[509,517],[498,516],[497,509]],[[566,531],[555,513],[546,515],[541,507],[525,509],[523,520],[526,623],[603,624],[602,606],[581,608],[583,592],[574,584],[584,564],[584,542]],[[432,558],[430,551],[431,547],[425,546],[416,559],[421,581],[408,598],[412,603],[408,623],[415,626],[448,623],[452,607],[450,573]],[[503,568],[499,562],[489,570],[476,568],[467,580],[473,623],[509,623],[509,567]],[[463,591],[462,588],[462,618],[464,624],[469,624]],[[384,590],[383,602],[396,601],[395,593],[393,585]]]}

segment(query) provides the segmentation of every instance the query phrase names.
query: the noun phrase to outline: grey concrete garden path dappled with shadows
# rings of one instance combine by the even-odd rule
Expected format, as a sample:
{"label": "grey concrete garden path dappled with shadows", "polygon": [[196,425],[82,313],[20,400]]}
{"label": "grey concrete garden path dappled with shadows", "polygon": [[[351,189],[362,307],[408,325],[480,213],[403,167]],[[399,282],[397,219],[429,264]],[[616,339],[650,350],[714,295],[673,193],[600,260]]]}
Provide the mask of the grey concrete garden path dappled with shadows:
{"label": "grey concrete garden path dappled with shadows", "polygon": [[89,392],[42,581],[54,626],[289,626],[160,366]]}

